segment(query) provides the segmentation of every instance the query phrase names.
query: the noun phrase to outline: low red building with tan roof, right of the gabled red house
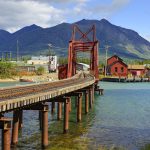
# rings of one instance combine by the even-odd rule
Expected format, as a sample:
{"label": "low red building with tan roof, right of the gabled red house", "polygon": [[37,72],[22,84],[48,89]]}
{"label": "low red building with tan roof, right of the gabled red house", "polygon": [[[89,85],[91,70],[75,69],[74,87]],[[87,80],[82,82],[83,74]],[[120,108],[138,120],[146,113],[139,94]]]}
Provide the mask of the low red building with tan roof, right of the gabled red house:
{"label": "low red building with tan roof, right of the gabled red house", "polygon": [[128,73],[132,76],[142,76],[145,74],[145,71],[144,65],[128,65]]}

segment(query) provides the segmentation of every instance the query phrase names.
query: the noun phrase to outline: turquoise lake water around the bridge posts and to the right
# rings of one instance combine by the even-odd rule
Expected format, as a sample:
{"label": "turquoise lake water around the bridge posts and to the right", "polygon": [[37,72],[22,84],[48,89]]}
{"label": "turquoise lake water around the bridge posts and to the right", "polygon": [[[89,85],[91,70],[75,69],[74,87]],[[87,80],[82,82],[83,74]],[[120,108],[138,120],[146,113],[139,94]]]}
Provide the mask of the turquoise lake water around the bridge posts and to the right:
{"label": "turquoise lake water around the bridge posts and to the right", "polygon": [[[150,83],[101,82],[100,86],[104,95],[95,94],[94,107],[87,115],[83,108],[81,123],[76,123],[72,104],[68,134],[62,134],[63,121],[49,112],[48,149],[150,149]],[[15,150],[41,149],[38,111],[24,111],[19,137]]]}

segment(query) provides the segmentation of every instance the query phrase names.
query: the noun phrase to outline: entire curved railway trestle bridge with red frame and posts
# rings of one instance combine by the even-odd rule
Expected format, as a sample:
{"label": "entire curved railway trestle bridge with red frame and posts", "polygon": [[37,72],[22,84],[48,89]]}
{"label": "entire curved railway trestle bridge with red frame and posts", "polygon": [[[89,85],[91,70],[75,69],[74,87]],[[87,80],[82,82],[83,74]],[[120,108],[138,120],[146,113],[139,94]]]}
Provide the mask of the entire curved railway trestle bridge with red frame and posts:
{"label": "entire curved railway trestle bridge with red frame and posts", "polygon": [[[75,32],[81,37],[75,39]],[[88,34],[92,32],[92,39]],[[76,72],[76,53],[90,52],[91,62],[89,74]],[[27,86],[5,88],[0,90],[0,129],[2,130],[2,149],[10,150],[11,145],[18,143],[18,131],[23,127],[23,110],[39,110],[39,122],[41,129],[42,147],[48,146],[48,111],[54,111],[57,104],[57,119],[62,119],[62,107],[64,107],[63,132],[67,133],[69,128],[69,112],[71,111],[71,97],[75,96],[76,120],[82,118],[82,101],[85,104],[85,114],[94,103],[94,91],[103,94],[103,89],[98,87],[98,41],[95,37],[95,26],[83,33],[77,26],[74,26],[72,41],[69,42],[68,68],[62,77],[66,79],[33,84]],[[84,98],[83,98],[84,96]],[[51,105],[48,105],[48,103]],[[13,118],[6,118],[7,112],[13,111]],[[12,131],[11,131],[12,129]]]}

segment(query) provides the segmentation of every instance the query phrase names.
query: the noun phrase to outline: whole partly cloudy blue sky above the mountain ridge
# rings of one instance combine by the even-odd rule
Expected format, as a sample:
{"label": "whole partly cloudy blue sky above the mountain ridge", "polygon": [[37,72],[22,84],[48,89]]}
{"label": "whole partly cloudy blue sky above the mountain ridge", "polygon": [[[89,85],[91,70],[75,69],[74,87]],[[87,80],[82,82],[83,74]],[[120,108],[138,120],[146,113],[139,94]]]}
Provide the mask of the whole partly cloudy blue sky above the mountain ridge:
{"label": "whole partly cloudy blue sky above the mountain ridge", "polygon": [[0,29],[51,27],[81,19],[107,19],[150,41],[150,0],[0,0]]}

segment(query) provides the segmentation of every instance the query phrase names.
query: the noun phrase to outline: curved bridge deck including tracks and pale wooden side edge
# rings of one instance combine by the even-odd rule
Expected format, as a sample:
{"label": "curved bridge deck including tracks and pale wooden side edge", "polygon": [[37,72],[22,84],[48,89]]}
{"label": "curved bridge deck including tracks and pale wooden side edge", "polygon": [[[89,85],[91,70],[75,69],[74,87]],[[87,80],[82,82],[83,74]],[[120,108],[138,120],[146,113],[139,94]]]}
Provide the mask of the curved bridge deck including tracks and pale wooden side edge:
{"label": "curved bridge deck including tracks and pale wooden side edge", "polygon": [[44,102],[94,83],[94,76],[80,73],[61,81],[2,89],[0,90],[0,113]]}

